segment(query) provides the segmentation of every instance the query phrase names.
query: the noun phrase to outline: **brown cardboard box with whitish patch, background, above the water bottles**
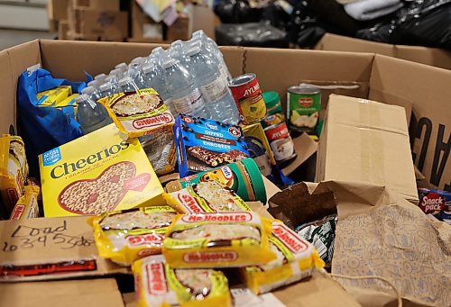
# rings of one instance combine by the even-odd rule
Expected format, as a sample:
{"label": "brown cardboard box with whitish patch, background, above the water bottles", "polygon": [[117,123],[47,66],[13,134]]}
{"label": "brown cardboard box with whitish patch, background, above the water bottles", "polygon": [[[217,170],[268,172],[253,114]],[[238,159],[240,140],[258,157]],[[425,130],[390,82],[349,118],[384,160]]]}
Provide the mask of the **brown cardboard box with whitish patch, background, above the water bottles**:
{"label": "brown cardboard box with whitish patch, background, above the water bottles", "polygon": [[[151,17],[135,1],[132,2],[132,38],[133,39],[163,39],[163,25],[155,23]],[[159,41],[152,41],[159,42]]]}

